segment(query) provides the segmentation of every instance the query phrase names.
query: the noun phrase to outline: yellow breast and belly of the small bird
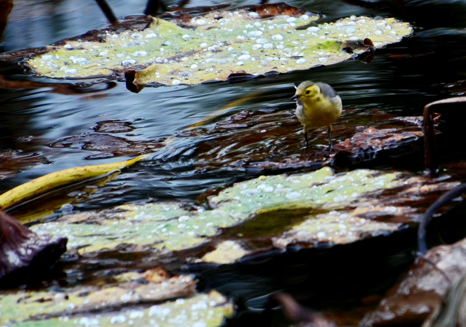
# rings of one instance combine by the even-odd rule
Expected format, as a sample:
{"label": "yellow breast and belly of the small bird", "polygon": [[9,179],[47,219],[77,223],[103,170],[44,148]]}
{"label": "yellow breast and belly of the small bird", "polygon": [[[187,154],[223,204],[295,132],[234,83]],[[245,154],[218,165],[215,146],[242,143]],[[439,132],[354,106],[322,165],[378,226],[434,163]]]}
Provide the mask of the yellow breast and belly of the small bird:
{"label": "yellow breast and belly of the small bird", "polygon": [[296,106],[299,121],[311,128],[329,126],[341,115],[339,96],[326,98],[322,94],[313,97],[300,97]]}

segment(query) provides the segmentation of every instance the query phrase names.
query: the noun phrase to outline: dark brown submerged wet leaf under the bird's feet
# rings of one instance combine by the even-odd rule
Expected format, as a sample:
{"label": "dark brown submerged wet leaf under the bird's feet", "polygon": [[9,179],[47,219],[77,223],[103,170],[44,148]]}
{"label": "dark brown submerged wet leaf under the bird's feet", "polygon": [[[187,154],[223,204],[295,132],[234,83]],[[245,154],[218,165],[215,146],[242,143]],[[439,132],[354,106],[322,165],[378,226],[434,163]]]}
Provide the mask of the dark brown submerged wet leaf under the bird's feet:
{"label": "dark brown submerged wet leaf under the bird's feet", "polygon": [[[325,130],[311,131],[310,148],[306,149],[294,112],[276,110],[242,111],[213,126],[188,128],[167,139],[130,141],[122,136],[94,133],[59,139],[50,146],[79,144],[83,150],[100,151],[88,159],[154,152],[154,160],[163,164],[180,159],[194,161],[192,174],[198,174],[227,167],[254,172],[325,165],[346,167],[414,145],[423,136],[422,117],[397,117],[377,110],[370,115],[347,110],[334,125],[336,152],[324,150],[328,141]],[[252,129],[258,133],[251,133]]]}

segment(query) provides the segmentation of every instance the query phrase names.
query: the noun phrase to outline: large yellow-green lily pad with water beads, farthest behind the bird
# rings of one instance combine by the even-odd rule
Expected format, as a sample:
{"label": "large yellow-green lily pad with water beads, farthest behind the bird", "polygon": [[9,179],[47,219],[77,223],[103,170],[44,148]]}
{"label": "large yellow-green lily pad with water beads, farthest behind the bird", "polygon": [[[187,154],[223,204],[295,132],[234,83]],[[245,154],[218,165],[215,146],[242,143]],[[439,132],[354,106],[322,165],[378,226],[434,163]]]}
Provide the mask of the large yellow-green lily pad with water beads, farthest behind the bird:
{"label": "large yellow-green lily pad with water beads, farthest behind the bird", "polygon": [[352,16],[317,25],[317,15],[284,3],[188,17],[173,22],[154,18],[144,30],[105,29],[93,41],[66,40],[26,64],[52,78],[127,71],[127,85],[131,90],[130,85],[137,85],[138,91],[148,82],[197,84],[224,81],[238,73],[259,76],[333,64],[412,32],[408,23],[393,18]]}

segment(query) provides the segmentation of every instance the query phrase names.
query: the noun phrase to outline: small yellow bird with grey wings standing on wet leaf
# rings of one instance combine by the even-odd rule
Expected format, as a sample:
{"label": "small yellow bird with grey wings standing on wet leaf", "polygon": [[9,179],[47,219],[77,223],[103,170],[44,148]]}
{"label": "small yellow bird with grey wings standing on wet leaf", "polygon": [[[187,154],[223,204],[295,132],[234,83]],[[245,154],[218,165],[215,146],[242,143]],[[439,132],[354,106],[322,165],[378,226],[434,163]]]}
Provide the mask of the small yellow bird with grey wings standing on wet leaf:
{"label": "small yellow bird with grey wings standing on wet leaf", "polygon": [[341,115],[341,98],[332,86],[321,82],[306,81],[295,86],[296,93],[290,100],[296,100],[296,116],[303,124],[306,147],[309,146],[308,128],[327,126],[330,151],[335,150],[332,142],[332,123]]}

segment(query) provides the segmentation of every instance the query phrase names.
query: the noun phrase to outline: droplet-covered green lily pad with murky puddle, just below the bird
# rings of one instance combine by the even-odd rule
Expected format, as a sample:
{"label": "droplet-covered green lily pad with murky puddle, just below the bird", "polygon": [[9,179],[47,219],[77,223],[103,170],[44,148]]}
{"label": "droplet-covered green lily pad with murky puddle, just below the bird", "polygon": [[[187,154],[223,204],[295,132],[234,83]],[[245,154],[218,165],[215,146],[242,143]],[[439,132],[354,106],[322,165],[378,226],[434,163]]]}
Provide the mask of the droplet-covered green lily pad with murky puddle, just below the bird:
{"label": "droplet-covered green lily pad with murky puddle, just below the bird", "polygon": [[[429,180],[424,177],[365,169],[335,175],[325,167],[306,174],[261,176],[237,183],[209,197],[209,207],[213,208],[209,210],[189,209],[183,203],[123,205],[100,213],[66,215],[32,226],[32,230],[67,235],[70,250],[81,255],[125,248],[166,256],[215,244],[219,233],[224,234],[222,242],[254,242],[255,237],[267,237],[282,250],[296,243],[344,244],[387,234],[402,223],[415,221],[419,202],[453,185],[440,182],[418,189],[426,183]],[[248,224],[260,227],[249,228]],[[224,243],[217,251],[225,245],[241,252],[225,251],[233,261],[259,250]],[[191,255],[200,258],[204,255],[201,252]]]}

